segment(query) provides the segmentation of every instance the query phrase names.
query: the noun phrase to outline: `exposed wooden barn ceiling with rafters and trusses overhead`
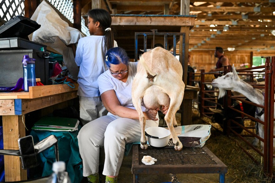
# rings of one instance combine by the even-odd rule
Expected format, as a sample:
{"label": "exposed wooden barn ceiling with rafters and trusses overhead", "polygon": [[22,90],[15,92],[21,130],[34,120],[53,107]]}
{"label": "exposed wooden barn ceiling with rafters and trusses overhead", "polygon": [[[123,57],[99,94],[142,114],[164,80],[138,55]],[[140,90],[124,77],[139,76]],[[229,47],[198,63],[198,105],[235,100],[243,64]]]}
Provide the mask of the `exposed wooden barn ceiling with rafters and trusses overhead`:
{"label": "exposed wooden barn ceiling with rafters and trusses overhead", "polygon": [[[104,2],[113,14],[179,15],[181,9],[180,0]],[[89,3],[89,0],[82,1],[83,5]],[[190,15],[197,15],[190,31],[191,50],[214,49],[215,46],[236,49],[275,47],[275,0],[190,0],[189,10]]]}

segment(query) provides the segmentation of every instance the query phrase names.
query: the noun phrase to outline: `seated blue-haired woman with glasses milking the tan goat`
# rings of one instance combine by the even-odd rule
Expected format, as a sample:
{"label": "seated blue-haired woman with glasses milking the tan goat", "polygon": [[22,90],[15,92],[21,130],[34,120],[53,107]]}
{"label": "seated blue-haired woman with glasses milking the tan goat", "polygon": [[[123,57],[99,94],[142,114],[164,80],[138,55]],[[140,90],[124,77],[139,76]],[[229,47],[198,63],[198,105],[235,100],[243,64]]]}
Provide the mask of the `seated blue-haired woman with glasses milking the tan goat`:
{"label": "seated blue-haired woman with glasses milking the tan goat", "polygon": [[[99,147],[104,146],[105,149],[103,175],[106,182],[117,183],[125,144],[140,141],[141,137],[139,115],[131,96],[138,62],[129,62],[126,51],[115,47],[107,51],[105,63],[108,70],[98,77],[98,86],[108,114],[84,125],[78,134],[83,176],[93,183],[99,182]],[[157,127],[158,109],[142,109],[146,118],[145,128]]]}

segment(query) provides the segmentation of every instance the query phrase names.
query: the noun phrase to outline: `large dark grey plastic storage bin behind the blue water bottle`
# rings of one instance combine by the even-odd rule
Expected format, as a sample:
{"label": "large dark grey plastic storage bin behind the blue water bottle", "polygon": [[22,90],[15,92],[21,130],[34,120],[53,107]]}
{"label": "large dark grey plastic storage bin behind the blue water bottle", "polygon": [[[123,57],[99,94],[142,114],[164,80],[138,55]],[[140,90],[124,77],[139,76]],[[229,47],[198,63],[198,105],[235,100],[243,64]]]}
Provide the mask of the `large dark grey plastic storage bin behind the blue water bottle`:
{"label": "large dark grey plastic storage bin behind the blue water bottle", "polygon": [[44,85],[51,84],[49,78],[49,55],[39,50],[3,50],[0,51],[0,87],[15,86],[17,80],[23,77],[22,59],[29,55],[35,61],[35,76]]}

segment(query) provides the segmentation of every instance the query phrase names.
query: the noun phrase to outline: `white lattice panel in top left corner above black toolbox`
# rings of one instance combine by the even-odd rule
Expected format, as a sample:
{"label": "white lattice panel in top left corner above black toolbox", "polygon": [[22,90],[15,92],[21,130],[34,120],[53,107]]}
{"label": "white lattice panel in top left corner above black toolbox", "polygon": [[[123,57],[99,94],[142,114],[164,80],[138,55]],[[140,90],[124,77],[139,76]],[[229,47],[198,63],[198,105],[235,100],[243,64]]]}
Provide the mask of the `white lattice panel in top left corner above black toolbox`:
{"label": "white lattice panel in top left corner above black toolbox", "polygon": [[24,0],[0,1],[0,17],[5,21],[17,15],[24,15]]}

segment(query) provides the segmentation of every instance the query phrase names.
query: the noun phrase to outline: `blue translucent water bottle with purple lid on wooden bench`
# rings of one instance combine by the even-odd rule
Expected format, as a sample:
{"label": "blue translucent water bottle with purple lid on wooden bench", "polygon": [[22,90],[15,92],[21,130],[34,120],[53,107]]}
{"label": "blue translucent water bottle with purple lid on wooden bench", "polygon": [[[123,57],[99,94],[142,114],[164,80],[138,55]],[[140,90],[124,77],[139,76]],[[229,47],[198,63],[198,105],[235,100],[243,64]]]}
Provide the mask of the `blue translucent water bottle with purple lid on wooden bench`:
{"label": "blue translucent water bottle with purple lid on wooden bench", "polygon": [[36,86],[35,80],[35,59],[29,58],[29,55],[24,55],[22,63],[24,70],[24,91],[29,91],[29,86]]}

